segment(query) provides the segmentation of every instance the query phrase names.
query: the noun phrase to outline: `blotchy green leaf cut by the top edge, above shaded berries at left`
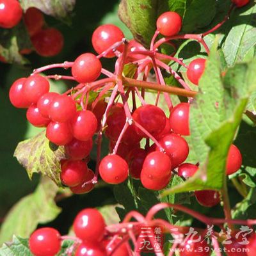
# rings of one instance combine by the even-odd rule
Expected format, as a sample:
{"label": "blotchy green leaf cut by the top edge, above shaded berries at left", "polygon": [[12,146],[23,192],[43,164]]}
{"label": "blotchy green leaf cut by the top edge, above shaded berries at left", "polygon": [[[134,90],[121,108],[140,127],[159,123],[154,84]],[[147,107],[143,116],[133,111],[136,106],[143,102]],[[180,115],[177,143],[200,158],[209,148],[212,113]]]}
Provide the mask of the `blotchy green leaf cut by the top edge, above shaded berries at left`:
{"label": "blotchy green leaf cut by the top edge, above shaded berries at left", "polygon": [[20,4],[24,11],[35,7],[56,19],[67,21],[67,15],[74,9],[76,0],[20,0]]}

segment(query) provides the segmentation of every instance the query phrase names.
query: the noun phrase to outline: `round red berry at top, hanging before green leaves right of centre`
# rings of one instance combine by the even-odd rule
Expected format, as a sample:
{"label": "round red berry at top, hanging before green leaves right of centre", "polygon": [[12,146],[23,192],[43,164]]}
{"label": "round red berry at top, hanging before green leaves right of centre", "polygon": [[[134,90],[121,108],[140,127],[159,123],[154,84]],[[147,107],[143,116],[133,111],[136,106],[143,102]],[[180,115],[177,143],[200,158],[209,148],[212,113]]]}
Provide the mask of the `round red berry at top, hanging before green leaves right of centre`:
{"label": "round red berry at top, hanging before green leaves right of centre", "polygon": [[177,12],[164,12],[156,22],[157,30],[164,36],[177,35],[182,26],[182,19]]}

